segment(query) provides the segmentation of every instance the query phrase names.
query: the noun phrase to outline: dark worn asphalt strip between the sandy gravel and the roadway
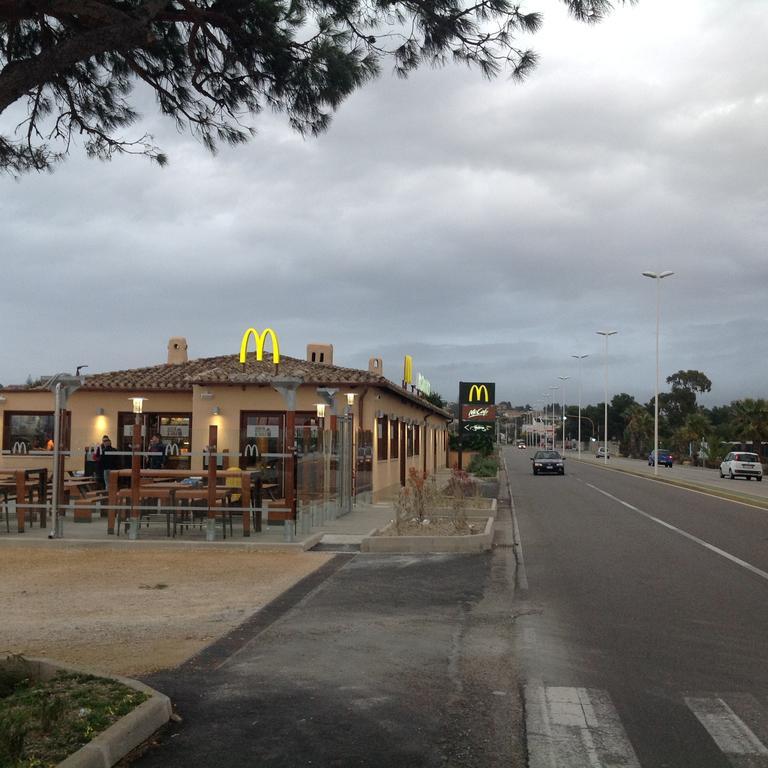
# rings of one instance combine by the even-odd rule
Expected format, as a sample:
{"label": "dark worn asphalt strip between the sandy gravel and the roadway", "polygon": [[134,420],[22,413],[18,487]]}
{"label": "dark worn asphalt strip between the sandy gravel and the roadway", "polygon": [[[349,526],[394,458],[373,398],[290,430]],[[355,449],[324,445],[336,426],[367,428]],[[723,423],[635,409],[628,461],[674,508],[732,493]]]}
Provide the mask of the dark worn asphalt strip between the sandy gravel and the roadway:
{"label": "dark worn asphalt strip between the sandy gravel and the roadway", "polygon": [[147,680],[183,720],[135,765],[524,765],[514,568],[511,547],[337,556],[199,657]]}

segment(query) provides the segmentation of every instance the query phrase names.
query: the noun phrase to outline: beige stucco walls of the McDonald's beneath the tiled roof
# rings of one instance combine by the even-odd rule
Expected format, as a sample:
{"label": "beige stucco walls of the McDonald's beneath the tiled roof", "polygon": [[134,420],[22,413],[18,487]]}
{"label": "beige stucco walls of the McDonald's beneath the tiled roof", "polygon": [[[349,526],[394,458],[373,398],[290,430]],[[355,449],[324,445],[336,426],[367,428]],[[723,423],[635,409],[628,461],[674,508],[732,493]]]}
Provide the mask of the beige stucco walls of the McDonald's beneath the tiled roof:
{"label": "beige stucco walls of the McDonald's beneath the tiled roof", "polygon": [[[357,395],[352,406],[355,427],[367,429],[373,434],[373,489],[374,499],[391,497],[400,486],[400,458],[379,461],[376,455],[376,414],[383,412],[395,414],[400,420],[412,419],[421,428],[420,453],[406,457],[406,474],[414,467],[421,471],[424,468],[426,453],[426,468],[432,472],[435,465],[432,429],[438,430],[437,466],[446,465],[443,448],[442,430],[445,428],[443,419],[430,415],[425,422],[428,412],[419,408],[415,403],[403,400],[388,390],[376,387],[357,387]],[[345,392],[339,392],[335,397],[337,413],[344,412],[346,405]],[[203,398],[203,393],[211,397]],[[0,430],[4,428],[3,414],[5,411],[53,411],[54,399],[47,392],[12,392],[2,390],[6,398],[0,402]],[[117,443],[118,412],[131,411],[132,403],[129,395],[144,396],[145,413],[192,413],[192,469],[202,469],[201,451],[209,442],[209,427],[215,424],[218,428],[218,448],[227,449],[233,456],[239,451],[240,443],[240,414],[241,411],[271,411],[283,412],[285,404],[280,394],[270,386],[241,387],[241,386],[194,386],[192,392],[107,392],[99,390],[80,390],[69,400],[68,410],[71,412],[71,447],[72,458],[66,461],[66,469],[83,468],[83,449],[86,446],[97,445],[102,435],[108,434],[113,443]],[[316,404],[321,401],[314,385],[305,385],[296,393],[296,410],[314,413]],[[214,415],[215,407],[220,414]],[[99,414],[98,409],[104,409]],[[326,410],[326,423],[330,418],[330,409]],[[356,435],[356,431],[355,431]],[[356,450],[355,446],[355,450]],[[234,462],[233,462],[234,463]],[[52,460],[48,457],[8,456],[0,457],[0,468],[21,469],[47,466],[52,469]]]}

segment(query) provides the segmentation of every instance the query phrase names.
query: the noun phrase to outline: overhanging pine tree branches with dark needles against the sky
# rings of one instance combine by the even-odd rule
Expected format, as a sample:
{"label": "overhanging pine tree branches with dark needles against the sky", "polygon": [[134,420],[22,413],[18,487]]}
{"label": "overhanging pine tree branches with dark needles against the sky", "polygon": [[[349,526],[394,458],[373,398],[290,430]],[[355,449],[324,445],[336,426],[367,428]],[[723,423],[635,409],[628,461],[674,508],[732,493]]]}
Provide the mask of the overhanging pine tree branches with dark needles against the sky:
{"label": "overhanging pine tree branches with dark needles against the sky", "polygon": [[[586,23],[612,7],[561,2]],[[213,150],[247,141],[243,117],[265,107],[301,133],[325,130],[387,59],[402,77],[450,60],[521,80],[537,57],[517,38],[541,23],[510,0],[6,0],[0,114],[23,101],[26,117],[15,137],[0,137],[0,167],[48,168],[77,135],[91,156],[165,163],[151,136],[120,133],[138,117],[129,100],[137,82]]]}

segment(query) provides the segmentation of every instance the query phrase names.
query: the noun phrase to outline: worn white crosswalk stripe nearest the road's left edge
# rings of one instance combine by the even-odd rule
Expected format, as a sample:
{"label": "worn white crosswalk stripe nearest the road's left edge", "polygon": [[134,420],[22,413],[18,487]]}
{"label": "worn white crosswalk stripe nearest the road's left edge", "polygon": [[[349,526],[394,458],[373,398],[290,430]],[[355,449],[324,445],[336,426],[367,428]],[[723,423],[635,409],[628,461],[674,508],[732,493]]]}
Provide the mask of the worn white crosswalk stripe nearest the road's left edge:
{"label": "worn white crosswalk stripe nearest the road's left edge", "polygon": [[640,768],[605,691],[525,688],[529,768]]}

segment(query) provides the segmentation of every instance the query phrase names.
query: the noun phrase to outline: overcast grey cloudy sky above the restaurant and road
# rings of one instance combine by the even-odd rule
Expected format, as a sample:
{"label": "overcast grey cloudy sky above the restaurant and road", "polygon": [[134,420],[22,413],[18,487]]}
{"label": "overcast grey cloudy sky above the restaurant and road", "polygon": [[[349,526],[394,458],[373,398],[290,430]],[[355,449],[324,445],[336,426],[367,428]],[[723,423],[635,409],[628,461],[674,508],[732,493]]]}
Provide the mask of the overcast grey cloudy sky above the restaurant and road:
{"label": "overcast grey cloudy sky above the restaurant and road", "polygon": [[[402,376],[405,353],[455,399],[646,402],[661,372],[704,371],[710,405],[768,394],[768,7],[640,0],[584,27],[556,0],[525,84],[385,66],[302,139],[264,115],[211,156],[143,99],[170,156],[75,150],[53,175],[0,177],[0,382],[234,353],[270,325],[284,354]],[[141,97],[140,97],[141,98]],[[7,132],[10,116],[0,117]],[[663,381],[663,379],[662,379]],[[561,395],[557,394],[560,400]]]}

